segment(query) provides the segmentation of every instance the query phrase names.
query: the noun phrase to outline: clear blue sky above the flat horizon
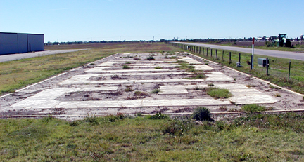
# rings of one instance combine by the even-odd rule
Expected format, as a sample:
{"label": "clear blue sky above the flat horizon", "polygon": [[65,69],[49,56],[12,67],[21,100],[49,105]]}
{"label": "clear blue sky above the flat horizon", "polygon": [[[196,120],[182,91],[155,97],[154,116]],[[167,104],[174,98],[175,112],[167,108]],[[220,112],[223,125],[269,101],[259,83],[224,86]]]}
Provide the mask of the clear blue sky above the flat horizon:
{"label": "clear blue sky above the flat horizon", "polygon": [[48,41],[223,39],[304,34],[303,0],[0,0],[0,32]]}

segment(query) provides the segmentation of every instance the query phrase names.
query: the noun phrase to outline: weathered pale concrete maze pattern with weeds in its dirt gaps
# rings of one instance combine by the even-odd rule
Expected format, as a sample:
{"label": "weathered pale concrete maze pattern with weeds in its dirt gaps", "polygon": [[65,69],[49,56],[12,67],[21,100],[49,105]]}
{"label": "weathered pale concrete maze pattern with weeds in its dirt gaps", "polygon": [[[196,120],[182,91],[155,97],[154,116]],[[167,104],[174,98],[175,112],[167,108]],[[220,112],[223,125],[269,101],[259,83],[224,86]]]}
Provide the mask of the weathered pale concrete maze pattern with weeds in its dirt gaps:
{"label": "weathered pale concrete maze pattern with weeds in its dirt gaps", "polygon": [[[96,65],[71,71],[67,76],[61,76],[62,79],[55,79],[55,82],[49,81],[46,86],[37,84],[32,88],[20,90],[15,93],[15,97],[18,98],[19,95],[27,97],[25,99],[20,97],[17,102],[7,104],[8,106],[2,110],[62,108],[66,109],[66,114],[87,114],[88,112],[132,114],[150,113],[156,110],[189,111],[186,110],[189,107],[194,109],[194,107],[203,106],[218,112],[220,110],[217,107],[220,106],[232,108],[236,107],[236,104],[272,105],[284,99],[274,97],[273,94],[277,92],[268,92],[263,88],[248,88],[244,85],[247,82],[255,83],[255,85],[261,84],[253,79],[237,81],[234,78],[239,77],[238,74],[224,74],[226,71],[223,71],[220,65],[212,65],[212,62],[208,62],[207,65],[207,62],[194,56],[179,54],[166,56],[156,53],[154,56],[156,60],[145,60],[151,53],[118,54],[103,61],[97,61]],[[141,60],[130,58],[135,55]],[[189,62],[196,69],[205,71],[203,74],[207,78],[184,79],[191,73],[183,69],[172,69],[176,66],[176,60],[167,59],[172,56]],[[125,62],[131,62],[132,64],[129,66],[132,69],[122,69]],[[156,66],[163,67],[163,69],[153,69]],[[219,100],[207,96],[203,90],[199,89],[208,88],[208,83],[213,83],[218,88],[229,89],[233,96]],[[160,89],[160,92],[152,93],[157,88]],[[135,91],[141,91],[147,95],[136,96]],[[184,108],[185,110],[183,110]],[[39,113],[47,111],[49,110]]]}

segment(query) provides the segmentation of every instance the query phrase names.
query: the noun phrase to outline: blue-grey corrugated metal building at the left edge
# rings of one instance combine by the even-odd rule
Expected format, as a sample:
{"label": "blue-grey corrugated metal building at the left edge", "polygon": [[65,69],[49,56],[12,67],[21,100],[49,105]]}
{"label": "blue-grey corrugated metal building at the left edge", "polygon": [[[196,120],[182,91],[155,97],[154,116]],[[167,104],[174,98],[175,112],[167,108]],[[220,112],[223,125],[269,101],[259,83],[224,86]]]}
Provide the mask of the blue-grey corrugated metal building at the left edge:
{"label": "blue-grey corrugated metal building at the left edge", "polygon": [[44,34],[0,32],[0,55],[44,50]]}

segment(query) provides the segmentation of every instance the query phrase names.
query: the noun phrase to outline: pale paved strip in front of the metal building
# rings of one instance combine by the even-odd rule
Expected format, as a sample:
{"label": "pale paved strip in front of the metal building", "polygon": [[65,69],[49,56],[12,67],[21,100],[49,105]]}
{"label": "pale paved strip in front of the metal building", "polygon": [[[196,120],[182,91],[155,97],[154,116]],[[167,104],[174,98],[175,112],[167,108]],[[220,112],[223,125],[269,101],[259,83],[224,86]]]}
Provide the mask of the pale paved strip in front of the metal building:
{"label": "pale paved strip in front of the metal building", "polygon": [[[85,50],[85,49],[80,49]],[[78,50],[44,50],[34,53],[15,53],[15,54],[9,54],[9,55],[0,55],[0,62],[6,62],[6,61],[13,61],[13,60],[20,60],[23,58],[34,58],[38,56],[43,55],[55,55],[58,53],[70,53],[75,52]]]}

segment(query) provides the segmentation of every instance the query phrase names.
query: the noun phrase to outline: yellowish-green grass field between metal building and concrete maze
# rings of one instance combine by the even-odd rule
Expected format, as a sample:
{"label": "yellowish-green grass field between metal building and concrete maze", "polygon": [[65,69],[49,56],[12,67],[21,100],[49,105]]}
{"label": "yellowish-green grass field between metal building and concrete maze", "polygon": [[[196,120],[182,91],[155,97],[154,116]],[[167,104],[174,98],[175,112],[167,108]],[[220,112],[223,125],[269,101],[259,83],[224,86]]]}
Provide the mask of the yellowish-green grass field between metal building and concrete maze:
{"label": "yellowish-green grass field between metal building and concrete maze", "polygon": [[0,62],[0,95],[37,83],[66,70],[86,65],[115,53],[160,52],[178,50],[163,43],[105,43],[89,45],[46,46],[45,50],[83,49],[73,53],[46,55],[10,62]]}

